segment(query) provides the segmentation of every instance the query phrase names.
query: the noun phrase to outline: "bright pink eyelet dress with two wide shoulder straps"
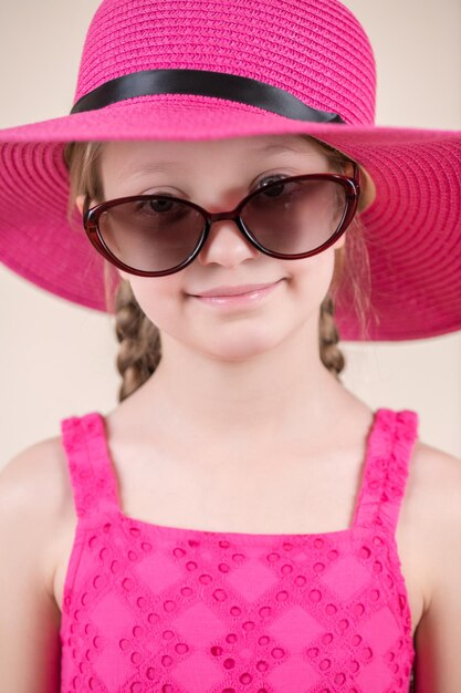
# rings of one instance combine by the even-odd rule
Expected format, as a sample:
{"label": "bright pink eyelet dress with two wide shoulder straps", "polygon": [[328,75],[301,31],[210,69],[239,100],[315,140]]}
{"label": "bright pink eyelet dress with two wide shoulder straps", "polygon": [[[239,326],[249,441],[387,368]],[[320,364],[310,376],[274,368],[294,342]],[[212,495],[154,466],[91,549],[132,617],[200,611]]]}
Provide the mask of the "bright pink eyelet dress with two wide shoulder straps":
{"label": "bright pink eyelet dress with two wide shoulder straps", "polygon": [[62,693],[408,692],[415,652],[395,530],[415,412],[376,412],[353,526],[315,535],[127,517],[104,417],[61,425],[78,518]]}

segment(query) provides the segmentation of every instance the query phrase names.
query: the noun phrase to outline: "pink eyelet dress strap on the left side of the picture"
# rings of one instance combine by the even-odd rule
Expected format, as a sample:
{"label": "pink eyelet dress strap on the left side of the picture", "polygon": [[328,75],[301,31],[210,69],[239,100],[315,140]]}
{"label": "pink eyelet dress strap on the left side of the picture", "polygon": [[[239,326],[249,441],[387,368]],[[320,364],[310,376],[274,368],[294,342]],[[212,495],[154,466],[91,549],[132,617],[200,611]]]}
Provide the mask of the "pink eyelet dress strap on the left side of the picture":
{"label": "pink eyelet dress strap on the left side of the picture", "polygon": [[116,477],[107,454],[105,423],[97,412],[61,421],[62,444],[78,518],[118,510]]}

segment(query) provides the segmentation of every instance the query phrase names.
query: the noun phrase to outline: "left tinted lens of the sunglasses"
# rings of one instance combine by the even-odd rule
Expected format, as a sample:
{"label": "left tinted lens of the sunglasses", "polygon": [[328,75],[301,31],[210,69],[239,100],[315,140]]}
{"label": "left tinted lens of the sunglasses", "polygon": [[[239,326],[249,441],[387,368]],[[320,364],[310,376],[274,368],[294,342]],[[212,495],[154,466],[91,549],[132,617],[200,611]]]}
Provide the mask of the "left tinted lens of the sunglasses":
{"label": "left tinted lens of the sunglasses", "polygon": [[143,271],[164,271],[187,260],[203,228],[205,219],[197,209],[168,197],[119,203],[98,219],[111,252]]}

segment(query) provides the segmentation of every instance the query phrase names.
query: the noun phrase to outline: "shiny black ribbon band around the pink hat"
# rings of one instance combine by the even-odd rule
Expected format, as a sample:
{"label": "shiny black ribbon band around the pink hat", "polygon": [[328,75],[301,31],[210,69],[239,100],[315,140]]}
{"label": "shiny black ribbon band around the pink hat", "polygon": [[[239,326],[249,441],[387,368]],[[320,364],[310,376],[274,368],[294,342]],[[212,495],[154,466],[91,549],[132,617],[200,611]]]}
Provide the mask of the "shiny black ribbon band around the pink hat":
{"label": "shiny black ribbon band around the pink hat", "polygon": [[143,70],[133,72],[109,80],[82,96],[73,106],[71,114],[95,111],[125,99],[153,94],[214,96],[256,106],[294,121],[345,124],[345,121],[336,113],[311,108],[300,99],[277,86],[237,74],[207,70]]}

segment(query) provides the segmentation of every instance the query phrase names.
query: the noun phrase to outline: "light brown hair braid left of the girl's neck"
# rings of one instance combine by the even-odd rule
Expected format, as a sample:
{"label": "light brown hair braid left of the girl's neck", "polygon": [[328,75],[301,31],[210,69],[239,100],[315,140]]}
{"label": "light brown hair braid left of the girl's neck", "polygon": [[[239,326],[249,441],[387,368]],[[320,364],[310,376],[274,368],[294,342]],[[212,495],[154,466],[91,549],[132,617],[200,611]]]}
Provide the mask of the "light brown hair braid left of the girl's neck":
{"label": "light brown hair braid left of the girl's neck", "polygon": [[154,373],[161,343],[158,328],[144,313],[126,280],[119,283],[115,307],[115,332],[121,342],[116,363],[123,379],[118,401],[123,402]]}

